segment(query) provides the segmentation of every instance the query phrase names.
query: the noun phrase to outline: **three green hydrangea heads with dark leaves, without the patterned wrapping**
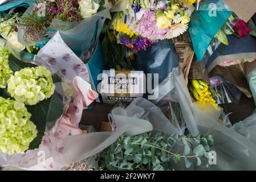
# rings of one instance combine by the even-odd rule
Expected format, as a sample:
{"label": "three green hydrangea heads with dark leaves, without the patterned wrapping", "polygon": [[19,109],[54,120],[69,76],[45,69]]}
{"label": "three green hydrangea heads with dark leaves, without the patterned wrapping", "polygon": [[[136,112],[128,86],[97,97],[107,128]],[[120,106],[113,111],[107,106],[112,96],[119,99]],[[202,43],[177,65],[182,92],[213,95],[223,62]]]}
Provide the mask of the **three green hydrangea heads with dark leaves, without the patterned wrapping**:
{"label": "three green hydrangea heads with dark leaves, without the patterned wrapping", "polygon": [[17,60],[12,52],[0,47],[0,152],[9,155],[38,147],[46,123],[63,112],[51,72]]}

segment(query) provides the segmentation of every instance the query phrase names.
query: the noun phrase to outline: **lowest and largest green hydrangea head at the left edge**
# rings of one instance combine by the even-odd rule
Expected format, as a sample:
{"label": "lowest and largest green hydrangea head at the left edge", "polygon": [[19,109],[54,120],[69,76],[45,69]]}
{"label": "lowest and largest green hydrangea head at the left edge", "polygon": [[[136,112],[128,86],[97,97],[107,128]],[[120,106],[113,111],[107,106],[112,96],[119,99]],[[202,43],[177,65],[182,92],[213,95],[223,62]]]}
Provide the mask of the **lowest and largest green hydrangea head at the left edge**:
{"label": "lowest and largest green hydrangea head at the left edge", "polygon": [[0,97],[0,152],[13,155],[29,148],[38,131],[25,104]]}

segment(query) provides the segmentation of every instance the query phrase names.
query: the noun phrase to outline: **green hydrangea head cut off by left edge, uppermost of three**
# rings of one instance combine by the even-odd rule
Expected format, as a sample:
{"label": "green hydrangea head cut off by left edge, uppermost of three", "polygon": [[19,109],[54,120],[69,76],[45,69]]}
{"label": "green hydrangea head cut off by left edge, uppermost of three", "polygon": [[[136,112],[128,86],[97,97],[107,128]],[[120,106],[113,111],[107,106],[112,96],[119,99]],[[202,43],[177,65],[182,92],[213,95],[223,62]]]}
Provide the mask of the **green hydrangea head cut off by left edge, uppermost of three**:
{"label": "green hydrangea head cut off by left edge, uppermost of three", "polygon": [[8,63],[8,57],[10,54],[10,49],[0,47],[0,88],[6,88],[7,81],[11,75],[13,75]]}

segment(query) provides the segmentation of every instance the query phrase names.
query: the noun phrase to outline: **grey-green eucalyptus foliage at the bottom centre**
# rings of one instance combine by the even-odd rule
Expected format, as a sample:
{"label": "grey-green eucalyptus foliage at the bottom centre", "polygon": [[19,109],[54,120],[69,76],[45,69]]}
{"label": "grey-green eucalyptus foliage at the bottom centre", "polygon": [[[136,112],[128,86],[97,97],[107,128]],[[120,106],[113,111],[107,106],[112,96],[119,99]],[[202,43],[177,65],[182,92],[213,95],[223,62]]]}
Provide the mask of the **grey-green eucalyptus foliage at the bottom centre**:
{"label": "grey-green eucalyptus foliage at the bottom centre", "polygon": [[197,136],[178,138],[162,133],[144,133],[133,137],[121,136],[101,153],[100,165],[107,170],[172,170],[175,163],[184,162],[186,168],[194,162],[210,157],[213,138]]}

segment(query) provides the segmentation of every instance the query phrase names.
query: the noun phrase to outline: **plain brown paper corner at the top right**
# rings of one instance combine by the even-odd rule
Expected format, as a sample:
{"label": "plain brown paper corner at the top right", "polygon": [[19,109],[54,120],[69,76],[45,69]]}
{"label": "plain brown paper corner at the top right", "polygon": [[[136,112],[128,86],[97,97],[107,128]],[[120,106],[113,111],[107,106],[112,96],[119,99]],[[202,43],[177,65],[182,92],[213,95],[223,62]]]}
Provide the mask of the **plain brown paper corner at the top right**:
{"label": "plain brown paper corner at the top right", "polygon": [[248,22],[256,13],[256,0],[234,1],[224,0],[227,6],[234,11],[241,19]]}

